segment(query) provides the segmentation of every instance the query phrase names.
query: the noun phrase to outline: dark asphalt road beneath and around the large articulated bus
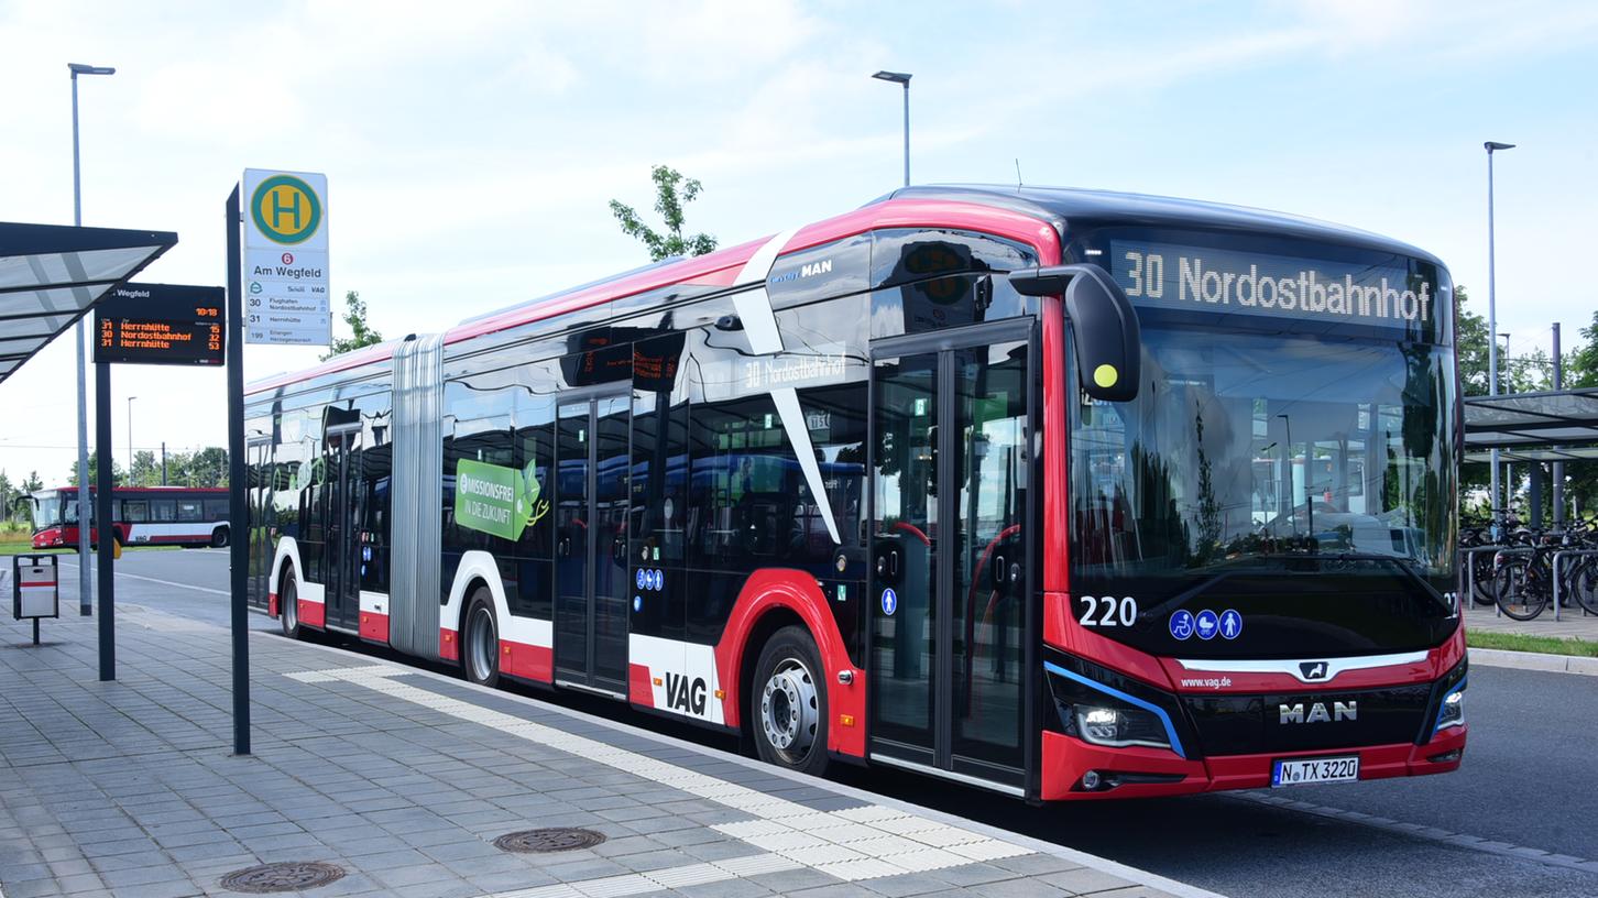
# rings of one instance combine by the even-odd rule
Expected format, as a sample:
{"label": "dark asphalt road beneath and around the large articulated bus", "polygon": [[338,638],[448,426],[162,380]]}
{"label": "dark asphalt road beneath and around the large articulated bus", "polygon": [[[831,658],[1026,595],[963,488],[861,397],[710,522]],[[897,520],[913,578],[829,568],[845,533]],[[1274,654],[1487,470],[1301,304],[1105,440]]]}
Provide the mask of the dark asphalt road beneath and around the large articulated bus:
{"label": "dark asphalt road beneath and around the large articulated bus", "polygon": [[[227,625],[227,564],[225,550],[129,551],[118,593]],[[275,622],[251,615],[251,626]],[[562,701],[733,746],[612,703]],[[1598,895],[1598,677],[1478,665],[1465,708],[1465,764],[1445,777],[1050,807],[895,770],[836,778],[1235,896]]]}

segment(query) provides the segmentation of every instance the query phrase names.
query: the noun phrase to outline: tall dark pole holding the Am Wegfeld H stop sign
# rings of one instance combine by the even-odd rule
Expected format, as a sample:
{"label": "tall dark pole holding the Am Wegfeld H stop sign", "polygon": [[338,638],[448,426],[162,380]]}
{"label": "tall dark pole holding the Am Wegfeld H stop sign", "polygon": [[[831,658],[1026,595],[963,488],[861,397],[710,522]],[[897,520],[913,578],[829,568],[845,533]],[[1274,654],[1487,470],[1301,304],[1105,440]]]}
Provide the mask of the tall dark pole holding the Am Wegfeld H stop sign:
{"label": "tall dark pole holding the Am Wegfeld H stop sign", "polygon": [[240,187],[227,198],[227,495],[233,601],[233,754],[249,754],[249,510],[244,508],[244,308]]}

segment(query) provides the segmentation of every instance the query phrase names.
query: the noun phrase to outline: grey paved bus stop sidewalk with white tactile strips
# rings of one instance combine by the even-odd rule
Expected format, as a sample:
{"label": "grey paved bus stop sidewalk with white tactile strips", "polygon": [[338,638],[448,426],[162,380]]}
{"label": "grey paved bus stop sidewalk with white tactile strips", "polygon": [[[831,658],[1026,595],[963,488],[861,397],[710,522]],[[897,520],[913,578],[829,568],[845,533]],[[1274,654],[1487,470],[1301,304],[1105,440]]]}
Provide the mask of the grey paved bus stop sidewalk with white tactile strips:
{"label": "grey paved bus stop sidewalk with white tactile strips", "polygon": [[[62,607],[67,596],[62,596]],[[123,606],[0,622],[0,895],[233,895],[320,861],[312,896],[1210,895],[1024,836],[741,757],[256,633],[254,756],[232,749],[229,636]],[[932,788],[938,788],[928,780]],[[511,853],[495,839],[602,840]]]}

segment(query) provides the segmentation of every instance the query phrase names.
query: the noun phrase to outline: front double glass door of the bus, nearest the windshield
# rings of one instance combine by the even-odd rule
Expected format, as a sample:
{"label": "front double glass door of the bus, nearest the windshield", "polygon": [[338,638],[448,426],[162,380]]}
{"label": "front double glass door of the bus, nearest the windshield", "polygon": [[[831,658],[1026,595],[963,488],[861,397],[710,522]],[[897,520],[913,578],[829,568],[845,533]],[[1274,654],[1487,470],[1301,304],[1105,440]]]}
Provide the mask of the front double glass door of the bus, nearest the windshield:
{"label": "front double glass door of the bus, nearest the windshield", "polygon": [[871,759],[1024,788],[1032,342],[873,345]]}

